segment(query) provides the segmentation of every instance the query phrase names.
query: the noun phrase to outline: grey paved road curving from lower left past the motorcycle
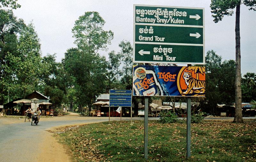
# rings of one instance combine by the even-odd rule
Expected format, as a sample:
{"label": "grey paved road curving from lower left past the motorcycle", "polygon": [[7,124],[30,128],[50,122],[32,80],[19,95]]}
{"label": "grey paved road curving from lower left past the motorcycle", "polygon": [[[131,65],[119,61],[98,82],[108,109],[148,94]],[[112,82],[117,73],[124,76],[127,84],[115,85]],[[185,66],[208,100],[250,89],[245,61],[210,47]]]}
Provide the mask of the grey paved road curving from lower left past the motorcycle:
{"label": "grey paved road curving from lower left past the motorcycle", "polygon": [[[75,125],[108,121],[108,117],[80,117],[66,116],[41,118],[38,125],[31,126],[31,122],[20,122],[14,124],[0,124],[0,161],[31,161],[31,157],[40,154],[42,146],[37,147],[37,143],[42,139],[45,130],[52,127],[63,125]],[[144,118],[132,118],[133,120],[143,120]],[[149,118],[157,120],[158,118]],[[24,120],[24,119],[20,119]],[[111,117],[110,120],[120,120],[120,118]],[[131,118],[122,118],[122,120],[131,120]],[[35,143],[35,141],[37,141]],[[30,152],[28,154],[28,152]],[[44,155],[49,156],[49,155]]]}

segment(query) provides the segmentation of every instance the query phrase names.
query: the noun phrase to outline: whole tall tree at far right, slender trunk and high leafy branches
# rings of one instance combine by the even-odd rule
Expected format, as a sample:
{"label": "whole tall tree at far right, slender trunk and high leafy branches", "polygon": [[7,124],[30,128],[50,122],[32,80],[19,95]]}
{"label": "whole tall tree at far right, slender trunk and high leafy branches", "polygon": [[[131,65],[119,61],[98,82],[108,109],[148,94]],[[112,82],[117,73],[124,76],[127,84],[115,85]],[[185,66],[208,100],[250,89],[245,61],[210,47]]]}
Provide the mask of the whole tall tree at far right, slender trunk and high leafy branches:
{"label": "whole tall tree at far right, slender trunk and high leafy branches", "polygon": [[222,20],[222,18],[227,16],[232,16],[236,8],[236,109],[235,109],[235,118],[233,122],[243,123],[242,117],[242,92],[241,92],[241,50],[240,50],[240,5],[244,4],[249,7],[249,10],[256,11],[256,0],[232,0],[232,1],[223,1],[223,0],[212,0],[211,1],[211,12],[213,13],[212,17],[215,23]]}

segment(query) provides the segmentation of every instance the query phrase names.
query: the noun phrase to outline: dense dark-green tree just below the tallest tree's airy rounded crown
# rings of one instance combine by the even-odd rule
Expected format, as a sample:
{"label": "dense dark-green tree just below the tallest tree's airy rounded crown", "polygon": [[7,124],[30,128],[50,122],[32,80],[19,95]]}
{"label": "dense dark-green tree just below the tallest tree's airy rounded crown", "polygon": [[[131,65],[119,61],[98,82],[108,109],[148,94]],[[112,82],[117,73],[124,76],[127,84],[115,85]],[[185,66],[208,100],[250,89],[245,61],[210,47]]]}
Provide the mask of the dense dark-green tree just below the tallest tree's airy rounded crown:
{"label": "dense dark-green tree just below the tallest tree's airy rounded crown", "polygon": [[[67,56],[69,52],[72,52],[72,57]],[[105,92],[106,58],[99,54],[88,55],[76,49],[76,52],[67,51],[64,62],[64,68],[74,78],[79,110],[86,105],[91,107],[95,97]]]}

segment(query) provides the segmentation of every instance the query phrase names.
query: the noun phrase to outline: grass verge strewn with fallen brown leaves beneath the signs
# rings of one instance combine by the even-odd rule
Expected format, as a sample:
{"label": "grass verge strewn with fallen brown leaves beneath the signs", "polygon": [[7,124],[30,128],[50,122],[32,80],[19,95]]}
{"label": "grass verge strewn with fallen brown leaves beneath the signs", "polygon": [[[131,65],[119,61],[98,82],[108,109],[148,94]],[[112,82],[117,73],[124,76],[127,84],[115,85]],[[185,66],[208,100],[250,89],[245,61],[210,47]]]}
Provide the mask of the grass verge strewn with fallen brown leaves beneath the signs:
{"label": "grass verge strewn with fallen brown leaves beneath the signs", "polygon": [[[146,161],[143,121],[65,127],[54,135],[74,161]],[[255,136],[255,120],[191,124],[191,158],[186,159],[186,123],[149,121],[148,161],[256,161]]]}

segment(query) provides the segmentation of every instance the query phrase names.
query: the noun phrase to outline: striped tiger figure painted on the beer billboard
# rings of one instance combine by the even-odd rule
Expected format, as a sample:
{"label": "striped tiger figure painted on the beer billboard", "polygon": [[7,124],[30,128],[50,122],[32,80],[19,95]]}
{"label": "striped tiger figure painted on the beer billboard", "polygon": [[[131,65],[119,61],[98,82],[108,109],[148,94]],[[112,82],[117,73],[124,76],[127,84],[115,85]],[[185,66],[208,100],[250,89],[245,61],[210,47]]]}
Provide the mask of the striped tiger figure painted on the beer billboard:
{"label": "striped tiger figure painted on the beer billboard", "polygon": [[191,72],[184,71],[183,78],[185,79],[186,85],[188,88],[182,94],[191,94],[191,93],[204,93],[205,92],[205,81],[197,80],[192,77]]}

